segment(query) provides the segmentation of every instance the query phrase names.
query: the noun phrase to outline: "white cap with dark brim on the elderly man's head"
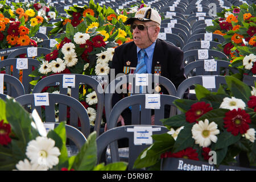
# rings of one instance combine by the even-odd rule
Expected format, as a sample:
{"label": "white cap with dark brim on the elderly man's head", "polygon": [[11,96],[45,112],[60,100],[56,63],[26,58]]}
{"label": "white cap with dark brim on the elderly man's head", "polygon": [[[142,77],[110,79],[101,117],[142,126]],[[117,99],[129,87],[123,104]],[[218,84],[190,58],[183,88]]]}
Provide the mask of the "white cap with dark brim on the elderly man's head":
{"label": "white cap with dark brim on the elderly man's head", "polygon": [[152,9],[151,7],[143,7],[139,9],[135,14],[134,18],[129,18],[125,22],[126,24],[132,24],[134,20],[141,20],[141,21],[153,21],[161,25],[161,16],[159,15],[158,11]]}

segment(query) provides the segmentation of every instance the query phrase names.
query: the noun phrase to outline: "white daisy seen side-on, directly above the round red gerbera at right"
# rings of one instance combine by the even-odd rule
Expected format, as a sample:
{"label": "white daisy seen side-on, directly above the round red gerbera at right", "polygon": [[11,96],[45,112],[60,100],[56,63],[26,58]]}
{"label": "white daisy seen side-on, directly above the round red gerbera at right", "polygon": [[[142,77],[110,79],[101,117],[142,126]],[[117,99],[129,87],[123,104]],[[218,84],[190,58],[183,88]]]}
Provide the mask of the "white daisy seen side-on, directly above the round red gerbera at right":
{"label": "white daisy seen side-on, directly above the round red gerbera at right", "polygon": [[235,97],[225,97],[220,105],[221,109],[245,109],[245,102],[241,100],[240,98],[235,98]]}

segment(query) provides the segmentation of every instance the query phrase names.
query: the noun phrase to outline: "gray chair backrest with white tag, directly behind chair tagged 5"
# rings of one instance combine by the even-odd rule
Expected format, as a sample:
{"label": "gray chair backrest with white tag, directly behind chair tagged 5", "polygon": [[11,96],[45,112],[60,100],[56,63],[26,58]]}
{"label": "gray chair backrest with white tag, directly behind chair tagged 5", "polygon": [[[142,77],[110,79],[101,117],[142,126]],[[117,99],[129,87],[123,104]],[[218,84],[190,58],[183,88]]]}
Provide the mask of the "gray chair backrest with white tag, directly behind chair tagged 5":
{"label": "gray chair backrest with white tag, directly behind chair tagged 5", "polygon": [[[39,57],[41,55],[48,55],[49,53],[51,53],[51,49],[44,48],[44,47],[33,47],[34,48],[33,52],[28,52],[28,49],[30,49],[30,48],[20,48],[20,49],[17,49],[14,52],[10,53],[7,56],[7,59],[15,58],[16,56],[22,55],[24,53],[27,55],[27,57]],[[37,52],[35,52],[35,51],[37,51]],[[36,55],[36,56],[29,56],[28,54]]]}

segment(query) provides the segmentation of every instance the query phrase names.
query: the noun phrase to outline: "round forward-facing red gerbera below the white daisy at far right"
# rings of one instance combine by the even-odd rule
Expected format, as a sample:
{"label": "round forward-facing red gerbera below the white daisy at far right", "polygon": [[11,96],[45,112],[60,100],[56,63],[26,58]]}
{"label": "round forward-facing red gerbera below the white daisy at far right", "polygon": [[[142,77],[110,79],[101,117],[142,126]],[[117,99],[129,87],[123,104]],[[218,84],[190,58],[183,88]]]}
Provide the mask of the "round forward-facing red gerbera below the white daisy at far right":
{"label": "round forward-facing red gerbera below the white daisy at far right", "polygon": [[225,114],[224,127],[228,128],[227,131],[231,132],[234,136],[238,133],[245,134],[249,129],[249,123],[251,123],[250,115],[245,110],[233,109]]}

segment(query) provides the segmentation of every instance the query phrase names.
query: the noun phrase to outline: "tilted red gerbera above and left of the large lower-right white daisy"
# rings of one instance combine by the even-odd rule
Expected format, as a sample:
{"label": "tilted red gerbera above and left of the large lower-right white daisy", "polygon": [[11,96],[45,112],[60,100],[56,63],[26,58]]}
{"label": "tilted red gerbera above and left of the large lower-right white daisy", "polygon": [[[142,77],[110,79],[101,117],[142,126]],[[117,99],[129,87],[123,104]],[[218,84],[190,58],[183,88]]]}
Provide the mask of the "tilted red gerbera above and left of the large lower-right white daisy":
{"label": "tilted red gerbera above and left of the large lower-right white daisy", "polygon": [[196,122],[197,118],[200,118],[201,115],[207,113],[212,109],[213,108],[210,107],[210,104],[206,104],[205,102],[196,102],[195,104],[192,104],[191,109],[189,109],[187,113],[185,113],[186,121],[189,123]]}

